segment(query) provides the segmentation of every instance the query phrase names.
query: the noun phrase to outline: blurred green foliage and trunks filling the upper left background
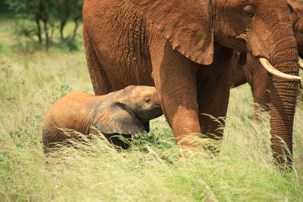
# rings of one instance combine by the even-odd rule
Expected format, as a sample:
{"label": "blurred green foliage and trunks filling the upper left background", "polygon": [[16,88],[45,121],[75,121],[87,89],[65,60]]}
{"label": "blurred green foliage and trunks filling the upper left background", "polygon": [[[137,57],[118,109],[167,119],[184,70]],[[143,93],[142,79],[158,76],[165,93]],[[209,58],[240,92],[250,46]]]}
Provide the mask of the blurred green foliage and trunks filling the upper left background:
{"label": "blurred green foliage and trunks filling the upper left background", "polygon": [[[9,0],[0,3],[3,18],[15,19],[13,34],[28,39],[34,49],[66,46],[78,49],[77,30],[82,21],[83,0]],[[71,23],[74,28],[71,29]],[[69,24],[69,29],[67,28]],[[21,42],[22,44],[23,42]]]}

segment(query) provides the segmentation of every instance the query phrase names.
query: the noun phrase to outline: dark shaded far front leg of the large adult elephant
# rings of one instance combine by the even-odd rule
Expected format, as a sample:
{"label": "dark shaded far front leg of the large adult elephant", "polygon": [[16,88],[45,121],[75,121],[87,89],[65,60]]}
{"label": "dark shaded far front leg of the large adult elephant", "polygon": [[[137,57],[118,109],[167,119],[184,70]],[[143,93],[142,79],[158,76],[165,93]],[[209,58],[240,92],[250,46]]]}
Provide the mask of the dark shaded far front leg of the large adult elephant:
{"label": "dark shaded far front leg of the large adult elephant", "polygon": [[[222,52],[221,52],[222,51]],[[201,133],[212,139],[222,139],[229,101],[230,58],[229,48],[220,48],[216,61],[201,66],[197,72],[197,98]],[[216,57],[217,54],[220,57]]]}

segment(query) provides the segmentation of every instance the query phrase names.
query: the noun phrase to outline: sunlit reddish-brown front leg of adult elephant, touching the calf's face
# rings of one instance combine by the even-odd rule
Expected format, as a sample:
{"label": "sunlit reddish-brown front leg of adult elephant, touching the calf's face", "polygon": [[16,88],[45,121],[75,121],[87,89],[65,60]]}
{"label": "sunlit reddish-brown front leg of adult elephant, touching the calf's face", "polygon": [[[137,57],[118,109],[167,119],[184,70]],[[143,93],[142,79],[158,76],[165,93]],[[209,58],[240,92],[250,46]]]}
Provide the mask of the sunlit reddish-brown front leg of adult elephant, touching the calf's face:
{"label": "sunlit reddish-brown front leg of adult elephant, touching the calf's face", "polygon": [[182,138],[200,133],[195,82],[199,65],[173,50],[168,41],[152,48],[150,56],[165,118],[176,141],[181,145],[192,145]]}

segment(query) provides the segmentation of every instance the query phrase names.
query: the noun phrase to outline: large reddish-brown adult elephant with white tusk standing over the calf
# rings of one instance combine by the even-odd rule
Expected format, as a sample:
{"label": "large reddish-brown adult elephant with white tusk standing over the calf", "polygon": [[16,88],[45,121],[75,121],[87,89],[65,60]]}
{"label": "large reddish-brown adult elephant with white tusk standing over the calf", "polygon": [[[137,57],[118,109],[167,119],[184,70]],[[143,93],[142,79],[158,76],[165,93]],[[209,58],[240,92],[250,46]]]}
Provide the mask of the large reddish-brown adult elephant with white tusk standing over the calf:
{"label": "large reddish-brown adult elephant with white tusk standing over the calf", "polygon": [[271,141],[285,163],[281,138],[292,152],[298,84],[291,79],[299,77],[284,0],[85,0],[83,23],[95,94],[155,85],[177,141],[189,133],[222,137],[221,125],[204,114],[226,116],[232,49],[280,71],[287,79],[270,77]]}

